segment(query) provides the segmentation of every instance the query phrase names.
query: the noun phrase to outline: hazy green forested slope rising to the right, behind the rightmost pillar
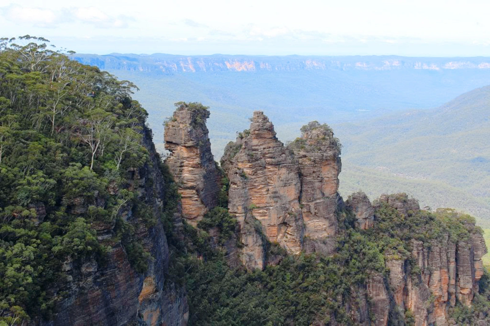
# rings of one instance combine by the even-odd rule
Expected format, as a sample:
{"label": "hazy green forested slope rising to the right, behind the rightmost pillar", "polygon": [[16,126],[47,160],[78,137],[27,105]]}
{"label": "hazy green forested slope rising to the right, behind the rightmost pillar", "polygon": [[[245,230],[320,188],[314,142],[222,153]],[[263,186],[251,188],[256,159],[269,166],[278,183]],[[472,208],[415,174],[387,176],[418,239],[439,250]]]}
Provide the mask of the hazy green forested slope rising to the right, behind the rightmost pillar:
{"label": "hazy green forested slope rising to the right, behind the rightmost pillar", "polygon": [[490,225],[490,87],[440,108],[346,123],[342,191],[379,196],[403,188],[424,205],[452,206]]}

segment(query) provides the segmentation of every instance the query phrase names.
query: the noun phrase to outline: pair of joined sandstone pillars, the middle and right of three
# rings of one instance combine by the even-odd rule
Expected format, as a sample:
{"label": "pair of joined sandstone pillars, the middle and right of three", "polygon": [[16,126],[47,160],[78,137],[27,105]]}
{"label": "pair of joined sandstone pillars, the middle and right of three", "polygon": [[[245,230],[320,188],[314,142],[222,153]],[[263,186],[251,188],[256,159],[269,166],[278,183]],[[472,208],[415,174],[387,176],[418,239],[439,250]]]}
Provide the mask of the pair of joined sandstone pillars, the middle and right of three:
{"label": "pair of joined sandstone pillars, the middle and right of three", "polygon": [[286,148],[262,111],[255,111],[251,121],[250,130],[229,143],[221,159],[230,180],[229,211],[242,226],[242,260],[248,268],[264,267],[265,243],[253,231],[257,222],[270,242],[290,253],[332,253],[342,200],[338,139],[314,121]]}

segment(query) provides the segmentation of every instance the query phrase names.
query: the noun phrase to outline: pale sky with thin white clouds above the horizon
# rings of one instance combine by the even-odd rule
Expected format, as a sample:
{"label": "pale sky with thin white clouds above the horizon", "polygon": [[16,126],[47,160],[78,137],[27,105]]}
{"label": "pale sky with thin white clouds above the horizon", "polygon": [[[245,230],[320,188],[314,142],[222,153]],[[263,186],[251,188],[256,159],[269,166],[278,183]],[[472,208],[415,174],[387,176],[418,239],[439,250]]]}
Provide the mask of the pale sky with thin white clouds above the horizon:
{"label": "pale sky with thin white clouds above the horizon", "polygon": [[0,0],[0,37],[78,53],[490,56],[488,0]]}

